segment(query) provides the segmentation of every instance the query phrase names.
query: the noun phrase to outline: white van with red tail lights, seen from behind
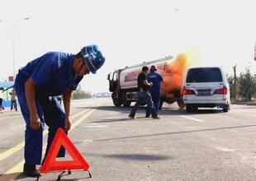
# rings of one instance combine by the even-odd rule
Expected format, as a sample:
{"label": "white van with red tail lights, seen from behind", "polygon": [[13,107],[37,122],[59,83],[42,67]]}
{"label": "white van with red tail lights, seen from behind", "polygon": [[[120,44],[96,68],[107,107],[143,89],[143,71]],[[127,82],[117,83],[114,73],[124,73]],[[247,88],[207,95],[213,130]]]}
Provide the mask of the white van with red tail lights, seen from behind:
{"label": "white van with red tail lights, seen from behind", "polygon": [[183,81],[183,101],[187,112],[198,108],[230,109],[230,86],[221,67],[190,67]]}

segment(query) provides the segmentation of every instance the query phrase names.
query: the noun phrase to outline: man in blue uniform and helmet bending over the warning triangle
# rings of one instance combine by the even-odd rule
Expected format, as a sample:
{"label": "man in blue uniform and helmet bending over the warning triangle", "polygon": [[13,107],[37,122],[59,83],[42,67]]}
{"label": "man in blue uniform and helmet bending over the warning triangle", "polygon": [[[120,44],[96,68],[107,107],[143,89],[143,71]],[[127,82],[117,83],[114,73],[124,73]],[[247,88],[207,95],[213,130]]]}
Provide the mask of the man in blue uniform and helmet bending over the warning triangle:
{"label": "man in blue uniform and helmet bending over the warning triangle", "polygon": [[[50,52],[21,67],[15,81],[21,113],[26,122],[25,164],[23,173],[40,177],[36,165],[41,164],[45,123],[49,127],[47,151],[58,128],[68,133],[72,91],[83,76],[102,67],[105,58],[96,45],[85,46],[74,54]],[[64,109],[55,96],[63,95]],[[46,155],[45,154],[45,155]],[[59,157],[65,155],[64,148]]]}

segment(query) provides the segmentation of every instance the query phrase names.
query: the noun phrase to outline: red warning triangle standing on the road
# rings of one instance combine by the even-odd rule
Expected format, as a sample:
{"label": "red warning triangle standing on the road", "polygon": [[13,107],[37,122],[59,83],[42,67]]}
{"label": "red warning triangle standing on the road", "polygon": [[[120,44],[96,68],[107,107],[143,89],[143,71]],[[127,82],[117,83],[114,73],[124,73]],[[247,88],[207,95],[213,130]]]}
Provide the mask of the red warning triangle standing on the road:
{"label": "red warning triangle standing on the road", "polygon": [[[56,157],[59,153],[60,146],[64,146],[66,151],[73,160],[59,160],[56,161]],[[41,173],[48,173],[50,171],[57,170],[72,170],[83,169],[88,171],[89,165],[83,156],[79,153],[78,149],[73,145],[69,137],[65,134],[62,128],[59,128],[55,134],[55,138],[50,146],[48,154],[46,155],[45,162],[40,166]]]}

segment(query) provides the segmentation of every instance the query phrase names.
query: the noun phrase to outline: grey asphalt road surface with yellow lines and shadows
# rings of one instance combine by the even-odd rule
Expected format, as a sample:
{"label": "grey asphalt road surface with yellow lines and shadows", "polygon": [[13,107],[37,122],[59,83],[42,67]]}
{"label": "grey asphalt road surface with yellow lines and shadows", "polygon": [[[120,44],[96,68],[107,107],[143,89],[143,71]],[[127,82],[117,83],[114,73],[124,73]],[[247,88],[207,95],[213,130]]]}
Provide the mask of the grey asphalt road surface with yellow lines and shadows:
{"label": "grey asphalt road surface with yellow lines and shadows", "polygon": [[[73,102],[69,138],[88,161],[92,179],[75,171],[62,180],[256,180],[256,106],[187,114],[165,105],[159,120],[144,118],[144,108],[135,120],[129,112],[109,99]],[[0,180],[36,180],[21,174],[24,126],[20,112],[0,114]]]}

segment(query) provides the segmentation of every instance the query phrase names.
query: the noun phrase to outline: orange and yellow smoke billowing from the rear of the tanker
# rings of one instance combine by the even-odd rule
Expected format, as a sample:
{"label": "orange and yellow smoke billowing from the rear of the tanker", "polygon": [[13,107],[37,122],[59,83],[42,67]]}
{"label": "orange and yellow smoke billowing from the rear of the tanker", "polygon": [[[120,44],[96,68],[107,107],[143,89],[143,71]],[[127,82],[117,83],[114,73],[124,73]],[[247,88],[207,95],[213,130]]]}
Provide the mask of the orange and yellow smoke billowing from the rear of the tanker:
{"label": "orange and yellow smoke billowing from the rear of the tanker", "polygon": [[187,51],[187,53],[180,53],[175,60],[168,62],[165,71],[161,72],[164,76],[164,83],[162,85],[162,95],[181,91],[183,86],[184,73],[187,67],[198,64],[199,53],[196,49]]}

